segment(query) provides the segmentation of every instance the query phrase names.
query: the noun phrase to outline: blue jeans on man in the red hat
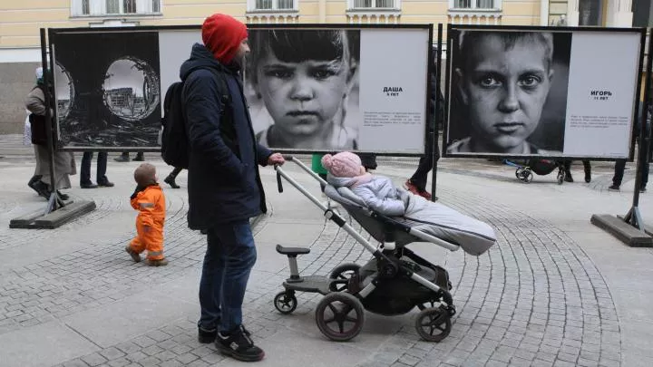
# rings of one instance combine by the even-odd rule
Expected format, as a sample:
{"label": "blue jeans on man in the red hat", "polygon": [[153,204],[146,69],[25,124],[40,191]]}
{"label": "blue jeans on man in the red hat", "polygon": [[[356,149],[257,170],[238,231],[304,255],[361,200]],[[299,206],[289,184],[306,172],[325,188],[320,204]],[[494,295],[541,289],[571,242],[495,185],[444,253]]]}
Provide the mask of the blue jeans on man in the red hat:
{"label": "blue jeans on man in the red hat", "polygon": [[242,303],[257,252],[249,220],[209,229],[200,279],[198,326],[231,333],[242,324]]}

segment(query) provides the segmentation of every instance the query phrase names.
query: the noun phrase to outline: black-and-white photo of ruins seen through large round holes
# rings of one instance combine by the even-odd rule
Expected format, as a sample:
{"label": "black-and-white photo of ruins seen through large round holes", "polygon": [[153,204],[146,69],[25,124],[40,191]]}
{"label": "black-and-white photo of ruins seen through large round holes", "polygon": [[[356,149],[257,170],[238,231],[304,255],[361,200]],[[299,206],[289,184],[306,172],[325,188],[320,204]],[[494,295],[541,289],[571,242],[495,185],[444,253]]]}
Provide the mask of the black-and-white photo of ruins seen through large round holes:
{"label": "black-and-white photo of ruins seen through large round holes", "polygon": [[54,54],[57,121],[64,147],[158,146],[156,32],[57,34]]}

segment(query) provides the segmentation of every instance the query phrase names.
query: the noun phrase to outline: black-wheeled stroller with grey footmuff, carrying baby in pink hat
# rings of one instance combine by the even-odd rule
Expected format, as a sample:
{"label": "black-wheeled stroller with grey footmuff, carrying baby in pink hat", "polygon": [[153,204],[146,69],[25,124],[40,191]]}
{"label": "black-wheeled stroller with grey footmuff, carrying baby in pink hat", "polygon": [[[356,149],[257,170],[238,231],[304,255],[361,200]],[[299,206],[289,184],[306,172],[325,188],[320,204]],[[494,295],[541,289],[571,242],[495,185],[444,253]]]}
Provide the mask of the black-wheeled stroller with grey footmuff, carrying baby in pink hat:
{"label": "black-wheeled stroller with grey footmuff, carrying baby in pink hat", "polygon": [[[310,249],[277,245],[278,253],[288,256],[290,268],[290,277],[283,283],[284,291],[274,298],[278,312],[291,314],[295,311],[296,292],[319,293],[324,297],[316,307],[317,327],[334,341],[348,341],[360,333],[365,322],[364,309],[390,316],[406,314],[417,307],[420,313],[414,326],[425,341],[440,342],[449,335],[452,329],[451,318],[455,314],[453,298],[449,293],[452,288],[449,274],[443,267],[429,263],[405,246],[412,242],[431,242],[450,251],[463,247],[465,252],[478,256],[494,244],[492,228],[449,208],[438,211],[443,217],[443,225],[439,226],[419,219],[386,217],[366,208],[362,200],[348,188],[336,189],[301,161],[293,157],[286,159],[297,163],[301,169],[327,185],[327,197],[340,203],[378,241],[378,246],[368,242],[336,211],[320,203],[281,167],[275,167],[279,192],[283,192],[282,178],[286,179],[322,209],[327,219],[343,228],[372,254],[364,266],[343,264],[336,266],[327,276],[301,276],[297,270],[297,256],[308,254]],[[424,198],[414,200],[426,202]],[[442,204],[428,203],[446,208]],[[440,210],[440,207],[436,208]],[[476,225],[482,224],[482,230],[477,232],[485,230],[485,234],[465,230],[465,225],[460,225],[461,218],[473,221]],[[474,225],[467,228],[474,228]]]}

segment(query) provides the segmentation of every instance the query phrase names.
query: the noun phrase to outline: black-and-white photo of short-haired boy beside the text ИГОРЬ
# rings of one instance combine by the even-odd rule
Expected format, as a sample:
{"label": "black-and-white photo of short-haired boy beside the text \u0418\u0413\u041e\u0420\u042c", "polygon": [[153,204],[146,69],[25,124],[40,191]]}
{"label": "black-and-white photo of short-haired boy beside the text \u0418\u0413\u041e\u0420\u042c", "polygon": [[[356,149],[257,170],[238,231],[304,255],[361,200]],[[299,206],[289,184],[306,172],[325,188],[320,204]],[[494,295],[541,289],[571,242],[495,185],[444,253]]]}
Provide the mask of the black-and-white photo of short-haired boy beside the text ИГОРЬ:
{"label": "black-and-white photo of short-haired boy beside the text \u0418\u0413\u041e\u0420\u042c", "polygon": [[560,155],[570,47],[569,32],[454,34],[447,152]]}

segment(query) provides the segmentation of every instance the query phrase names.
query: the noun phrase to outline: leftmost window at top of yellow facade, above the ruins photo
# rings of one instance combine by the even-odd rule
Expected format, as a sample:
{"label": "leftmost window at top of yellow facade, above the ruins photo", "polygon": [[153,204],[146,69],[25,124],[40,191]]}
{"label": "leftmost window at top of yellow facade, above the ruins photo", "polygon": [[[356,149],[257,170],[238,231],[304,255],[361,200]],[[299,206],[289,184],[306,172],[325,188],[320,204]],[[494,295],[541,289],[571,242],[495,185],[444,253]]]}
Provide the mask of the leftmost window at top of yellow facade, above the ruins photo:
{"label": "leftmost window at top of yellow facade, above the ruins photo", "polygon": [[161,0],[71,0],[72,16],[160,13]]}

